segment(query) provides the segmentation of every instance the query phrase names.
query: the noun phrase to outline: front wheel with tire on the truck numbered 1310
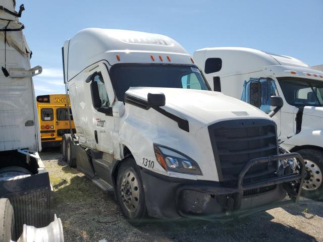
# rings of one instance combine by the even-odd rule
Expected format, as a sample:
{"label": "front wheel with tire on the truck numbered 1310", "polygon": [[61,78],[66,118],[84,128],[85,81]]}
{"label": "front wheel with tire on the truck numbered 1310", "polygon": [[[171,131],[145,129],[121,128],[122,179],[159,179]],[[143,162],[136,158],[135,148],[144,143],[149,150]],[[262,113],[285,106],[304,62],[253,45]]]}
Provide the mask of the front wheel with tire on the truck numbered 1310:
{"label": "front wheel with tire on the truck numbered 1310", "polygon": [[134,158],[122,161],[117,176],[117,198],[123,215],[133,225],[146,217],[146,202],[140,171]]}

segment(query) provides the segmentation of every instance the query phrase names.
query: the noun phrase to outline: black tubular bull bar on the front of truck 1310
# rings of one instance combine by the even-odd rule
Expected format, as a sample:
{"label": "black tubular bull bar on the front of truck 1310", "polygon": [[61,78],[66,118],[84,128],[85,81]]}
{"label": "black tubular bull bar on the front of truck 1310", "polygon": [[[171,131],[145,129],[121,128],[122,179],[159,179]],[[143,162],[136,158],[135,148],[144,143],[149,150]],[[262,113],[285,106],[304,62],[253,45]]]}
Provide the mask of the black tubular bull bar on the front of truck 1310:
{"label": "black tubular bull bar on the front of truck 1310", "polygon": [[[254,166],[256,164],[260,164],[260,163],[266,163],[266,162],[270,162],[270,161],[274,161],[274,160],[284,160],[284,159],[289,159],[289,158],[296,158],[297,161],[299,162],[300,169],[299,169],[298,173],[280,175],[280,176],[270,178],[267,180],[256,181],[255,183],[248,183],[245,185],[243,184],[244,176],[252,166]],[[255,159],[250,160],[248,163],[246,163],[243,166],[243,168],[241,169],[241,171],[238,175],[238,186],[236,188],[199,186],[199,185],[197,185],[197,186],[192,186],[192,185],[187,186],[186,185],[186,186],[182,186],[182,187],[178,188],[178,190],[176,192],[177,212],[182,217],[193,218],[193,219],[199,218],[199,219],[204,219],[204,220],[209,220],[209,221],[218,220],[218,221],[225,222],[225,221],[233,220],[234,218],[244,217],[244,216],[250,215],[252,213],[261,212],[261,211],[276,208],[276,207],[281,207],[284,205],[288,205],[291,202],[295,203],[298,201],[300,194],[301,194],[304,176],[305,176],[305,162],[304,162],[303,158],[301,157],[301,155],[298,153],[286,153],[286,154],[280,154],[280,155],[274,155],[274,156],[268,156],[268,157],[255,158]],[[290,181],[296,181],[296,180],[300,180],[298,188],[296,188],[297,192],[294,193],[292,190],[287,191],[287,188],[285,188],[286,192],[290,195],[290,199],[288,199],[288,200],[285,199],[285,200],[282,200],[279,202],[275,202],[272,204],[266,204],[266,205],[254,207],[251,209],[247,209],[247,210],[240,210],[244,190],[256,189],[256,188],[261,188],[261,187],[266,187],[266,186],[271,186],[271,185],[278,185],[278,184],[282,184],[282,183],[289,183]],[[199,192],[203,192],[203,193],[211,193],[211,194],[214,193],[217,195],[221,195],[221,194],[228,195],[228,198],[230,195],[234,195],[233,197],[231,197],[231,199],[228,200],[228,203],[231,203],[232,206],[234,203],[234,211],[226,210],[226,211],[224,211],[224,214],[222,214],[222,215],[213,214],[213,215],[206,215],[206,216],[196,216],[196,215],[185,214],[180,209],[180,205],[178,203],[178,198],[179,198],[180,193],[186,189],[193,190],[193,191],[199,191]]]}

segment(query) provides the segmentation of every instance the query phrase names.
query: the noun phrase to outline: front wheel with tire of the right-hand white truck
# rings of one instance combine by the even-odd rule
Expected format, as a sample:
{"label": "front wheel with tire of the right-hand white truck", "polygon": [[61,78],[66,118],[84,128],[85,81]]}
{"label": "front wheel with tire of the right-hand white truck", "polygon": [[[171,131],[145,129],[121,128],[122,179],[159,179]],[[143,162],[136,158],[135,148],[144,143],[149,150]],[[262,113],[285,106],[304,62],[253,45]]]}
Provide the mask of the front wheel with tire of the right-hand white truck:
{"label": "front wheel with tire of the right-hand white truck", "polygon": [[305,161],[302,196],[313,200],[323,199],[323,152],[315,149],[303,149],[298,152]]}

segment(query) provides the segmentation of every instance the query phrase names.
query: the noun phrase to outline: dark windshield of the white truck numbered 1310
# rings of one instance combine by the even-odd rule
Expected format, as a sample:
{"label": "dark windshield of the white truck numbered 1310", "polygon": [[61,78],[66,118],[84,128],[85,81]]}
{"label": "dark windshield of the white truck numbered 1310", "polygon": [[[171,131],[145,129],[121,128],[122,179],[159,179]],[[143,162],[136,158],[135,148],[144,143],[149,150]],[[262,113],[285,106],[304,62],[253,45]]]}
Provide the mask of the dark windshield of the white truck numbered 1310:
{"label": "dark windshield of the white truck numbered 1310", "polygon": [[130,87],[171,87],[210,90],[196,66],[163,64],[117,64],[111,79],[119,101]]}

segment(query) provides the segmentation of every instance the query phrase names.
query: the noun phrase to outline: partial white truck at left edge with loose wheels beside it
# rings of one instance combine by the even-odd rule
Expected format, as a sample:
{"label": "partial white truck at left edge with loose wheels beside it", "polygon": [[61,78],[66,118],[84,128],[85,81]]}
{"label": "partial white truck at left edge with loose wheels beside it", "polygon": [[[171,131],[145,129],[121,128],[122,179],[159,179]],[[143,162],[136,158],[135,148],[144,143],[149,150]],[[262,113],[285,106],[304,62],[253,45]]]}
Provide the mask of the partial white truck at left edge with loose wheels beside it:
{"label": "partial white truck at left edge with loose wheels beside it", "polygon": [[0,241],[62,242],[49,175],[37,152],[32,76],[42,69],[30,67],[31,51],[18,19],[23,10],[21,5],[17,13],[13,0],[0,1]]}

